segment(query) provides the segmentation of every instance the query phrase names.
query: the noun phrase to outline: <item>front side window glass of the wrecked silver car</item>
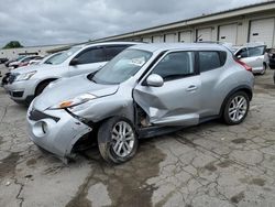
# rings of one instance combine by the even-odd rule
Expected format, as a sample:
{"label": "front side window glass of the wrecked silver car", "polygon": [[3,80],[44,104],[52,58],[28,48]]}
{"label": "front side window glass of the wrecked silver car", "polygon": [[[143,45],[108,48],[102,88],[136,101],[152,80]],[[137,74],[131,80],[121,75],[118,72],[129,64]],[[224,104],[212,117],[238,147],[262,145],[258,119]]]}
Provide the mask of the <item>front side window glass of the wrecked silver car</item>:
{"label": "front side window glass of the wrecked silver car", "polygon": [[153,69],[164,80],[194,75],[195,54],[193,52],[175,52],[167,54]]}

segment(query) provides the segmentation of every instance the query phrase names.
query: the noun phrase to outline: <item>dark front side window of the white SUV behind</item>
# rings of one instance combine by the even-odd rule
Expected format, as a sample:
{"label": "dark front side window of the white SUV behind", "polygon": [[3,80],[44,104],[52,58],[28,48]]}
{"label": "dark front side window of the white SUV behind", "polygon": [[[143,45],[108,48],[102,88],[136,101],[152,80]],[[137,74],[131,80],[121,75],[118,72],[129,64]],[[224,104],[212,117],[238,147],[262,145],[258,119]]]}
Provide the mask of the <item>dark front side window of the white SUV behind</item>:
{"label": "dark front side window of the white SUV behind", "polygon": [[103,48],[99,47],[99,48],[90,48],[84,51],[81,54],[77,56],[77,59],[79,65],[105,62]]}

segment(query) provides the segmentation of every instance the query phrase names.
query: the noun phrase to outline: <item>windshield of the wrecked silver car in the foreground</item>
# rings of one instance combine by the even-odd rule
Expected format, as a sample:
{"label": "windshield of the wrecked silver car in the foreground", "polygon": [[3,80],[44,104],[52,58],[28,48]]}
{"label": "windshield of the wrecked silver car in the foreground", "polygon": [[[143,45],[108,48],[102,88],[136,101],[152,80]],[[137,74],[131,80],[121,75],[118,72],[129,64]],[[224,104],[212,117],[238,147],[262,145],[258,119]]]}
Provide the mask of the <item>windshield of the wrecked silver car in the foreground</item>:
{"label": "windshield of the wrecked silver car in the foreground", "polygon": [[125,50],[89,79],[97,84],[120,84],[139,72],[151,56],[152,53],[146,51]]}

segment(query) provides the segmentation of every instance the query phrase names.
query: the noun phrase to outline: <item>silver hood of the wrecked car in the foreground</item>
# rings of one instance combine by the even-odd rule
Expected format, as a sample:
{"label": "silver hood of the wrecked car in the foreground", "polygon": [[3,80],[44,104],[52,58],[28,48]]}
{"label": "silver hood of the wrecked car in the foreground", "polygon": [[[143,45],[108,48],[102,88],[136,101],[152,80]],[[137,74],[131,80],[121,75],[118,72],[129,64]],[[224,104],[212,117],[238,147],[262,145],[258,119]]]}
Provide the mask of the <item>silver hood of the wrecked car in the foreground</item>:
{"label": "silver hood of the wrecked car in the foreground", "polygon": [[34,99],[33,107],[44,111],[62,101],[69,100],[86,92],[97,97],[103,97],[116,94],[118,89],[119,85],[100,85],[90,81],[87,75],[62,78],[45,88],[45,90]]}

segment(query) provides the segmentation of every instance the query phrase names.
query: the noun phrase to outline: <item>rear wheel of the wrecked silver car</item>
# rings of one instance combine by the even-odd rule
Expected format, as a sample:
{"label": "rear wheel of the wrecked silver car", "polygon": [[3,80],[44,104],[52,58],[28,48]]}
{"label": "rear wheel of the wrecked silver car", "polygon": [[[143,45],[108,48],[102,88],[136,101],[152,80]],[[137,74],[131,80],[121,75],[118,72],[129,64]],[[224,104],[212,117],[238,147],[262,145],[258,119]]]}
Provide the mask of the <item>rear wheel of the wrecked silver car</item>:
{"label": "rear wheel of the wrecked silver car", "polygon": [[238,91],[227,100],[222,113],[223,120],[229,126],[239,124],[243,122],[243,120],[248,116],[249,109],[250,109],[250,99],[248,94],[244,91]]}

